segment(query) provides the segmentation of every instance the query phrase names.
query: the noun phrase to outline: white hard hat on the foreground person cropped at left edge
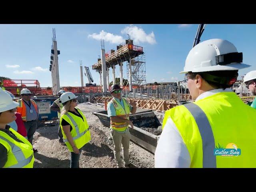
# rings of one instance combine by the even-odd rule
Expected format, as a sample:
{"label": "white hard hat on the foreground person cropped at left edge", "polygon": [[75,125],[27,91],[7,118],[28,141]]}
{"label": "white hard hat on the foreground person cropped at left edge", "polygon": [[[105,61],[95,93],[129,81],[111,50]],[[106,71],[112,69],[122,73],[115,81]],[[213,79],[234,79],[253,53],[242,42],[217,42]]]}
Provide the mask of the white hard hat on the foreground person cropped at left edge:
{"label": "white hard hat on the foreground person cropped at left edge", "polygon": [[12,100],[11,96],[0,90],[0,112],[8,111],[19,106],[18,102]]}

